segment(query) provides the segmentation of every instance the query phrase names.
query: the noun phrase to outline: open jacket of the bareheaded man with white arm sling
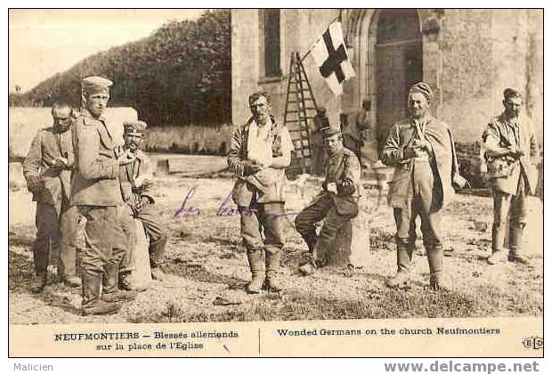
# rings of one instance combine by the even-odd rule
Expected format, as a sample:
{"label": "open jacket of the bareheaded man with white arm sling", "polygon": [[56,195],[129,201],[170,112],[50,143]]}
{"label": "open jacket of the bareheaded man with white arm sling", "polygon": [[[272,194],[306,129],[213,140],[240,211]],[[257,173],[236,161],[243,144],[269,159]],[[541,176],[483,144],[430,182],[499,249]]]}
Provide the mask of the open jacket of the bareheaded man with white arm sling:
{"label": "open jacket of the bareheaded man with white arm sling", "polygon": [[[273,117],[271,119],[272,157],[277,158],[282,156],[281,140],[288,129],[278,124]],[[228,154],[228,166],[238,176],[232,189],[232,200],[241,207],[248,207],[254,197],[262,203],[282,201],[282,188],[286,181],[285,168],[268,167],[256,175],[244,175],[241,162],[248,159],[248,132],[253,121],[253,117],[249,118],[246,124],[234,131]]]}

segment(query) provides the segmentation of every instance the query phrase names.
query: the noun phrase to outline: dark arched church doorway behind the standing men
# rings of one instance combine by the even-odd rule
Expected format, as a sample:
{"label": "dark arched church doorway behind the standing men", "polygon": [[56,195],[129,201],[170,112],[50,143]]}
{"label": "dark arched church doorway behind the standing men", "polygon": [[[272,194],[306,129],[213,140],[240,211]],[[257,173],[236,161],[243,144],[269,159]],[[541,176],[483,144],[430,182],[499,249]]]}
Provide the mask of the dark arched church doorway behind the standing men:
{"label": "dark arched church doorway behind the standing men", "polygon": [[389,128],[408,117],[409,87],[423,80],[422,34],[413,9],[377,11],[372,22],[376,23],[370,29],[375,42],[376,133],[381,155]]}

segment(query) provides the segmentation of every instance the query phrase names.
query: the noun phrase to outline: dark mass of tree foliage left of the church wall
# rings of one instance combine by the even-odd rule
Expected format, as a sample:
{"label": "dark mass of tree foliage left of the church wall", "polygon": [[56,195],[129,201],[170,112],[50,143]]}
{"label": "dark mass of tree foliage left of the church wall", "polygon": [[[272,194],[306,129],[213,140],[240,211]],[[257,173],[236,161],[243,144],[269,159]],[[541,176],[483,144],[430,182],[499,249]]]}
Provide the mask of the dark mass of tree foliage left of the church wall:
{"label": "dark mass of tree foliage left of the church wall", "polygon": [[111,106],[130,106],[150,126],[218,125],[231,121],[230,11],[171,20],[150,37],[113,47],[56,74],[12,102],[80,104],[80,80],[114,82]]}

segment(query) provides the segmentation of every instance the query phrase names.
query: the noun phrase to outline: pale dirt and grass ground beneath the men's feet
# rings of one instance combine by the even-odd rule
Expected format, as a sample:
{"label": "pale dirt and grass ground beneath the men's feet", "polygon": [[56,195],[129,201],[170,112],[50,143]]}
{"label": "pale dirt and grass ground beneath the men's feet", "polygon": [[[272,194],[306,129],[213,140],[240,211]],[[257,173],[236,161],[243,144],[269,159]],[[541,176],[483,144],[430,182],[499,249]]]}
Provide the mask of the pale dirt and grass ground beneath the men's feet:
{"label": "pale dirt and grass ground beneath the men's feet", "polygon": [[[95,317],[78,314],[80,289],[52,283],[43,293],[31,294],[33,209],[27,192],[10,192],[10,322],[542,316],[540,200],[532,202],[531,231],[527,235],[531,264],[506,262],[491,266],[485,261],[491,247],[491,198],[457,194],[443,212],[448,250],[445,281],[451,290],[440,293],[426,289],[428,266],[421,244],[414,257],[413,287],[406,291],[386,288],[386,279],[395,271],[394,222],[385,199],[377,204],[382,197],[376,191],[368,193],[371,262],[365,268],[324,268],[312,276],[300,276],[296,270],[306,246],[293,229],[293,216],[289,216],[282,259],[286,289],[280,294],[263,292],[251,296],[244,290],[250,274],[245,249],[240,244],[239,216],[232,211],[231,202],[225,202],[231,185],[229,178],[159,177],[159,215],[171,234],[163,265],[166,280],[153,281],[150,289],[123,306],[118,314]],[[187,194],[187,209],[175,217]],[[296,197],[289,197],[288,209],[295,211],[302,204]],[[55,275],[51,276],[55,281]]]}

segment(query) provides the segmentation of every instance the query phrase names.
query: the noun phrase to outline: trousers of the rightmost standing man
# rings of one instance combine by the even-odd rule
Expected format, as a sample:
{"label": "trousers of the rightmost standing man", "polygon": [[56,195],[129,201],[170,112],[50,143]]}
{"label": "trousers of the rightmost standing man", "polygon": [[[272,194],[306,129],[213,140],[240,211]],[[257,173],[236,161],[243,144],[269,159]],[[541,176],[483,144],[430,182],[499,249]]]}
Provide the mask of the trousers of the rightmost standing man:
{"label": "trousers of the rightmost standing man", "polygon": [[[527,223],[527,197],[524,175],[520,175],[515,195],[493,190],[494,217],[492,223],[492,250],[504,249],[509,215],[510,232],[524,230]],[[511,245],[511,244],[510,244]]]}

